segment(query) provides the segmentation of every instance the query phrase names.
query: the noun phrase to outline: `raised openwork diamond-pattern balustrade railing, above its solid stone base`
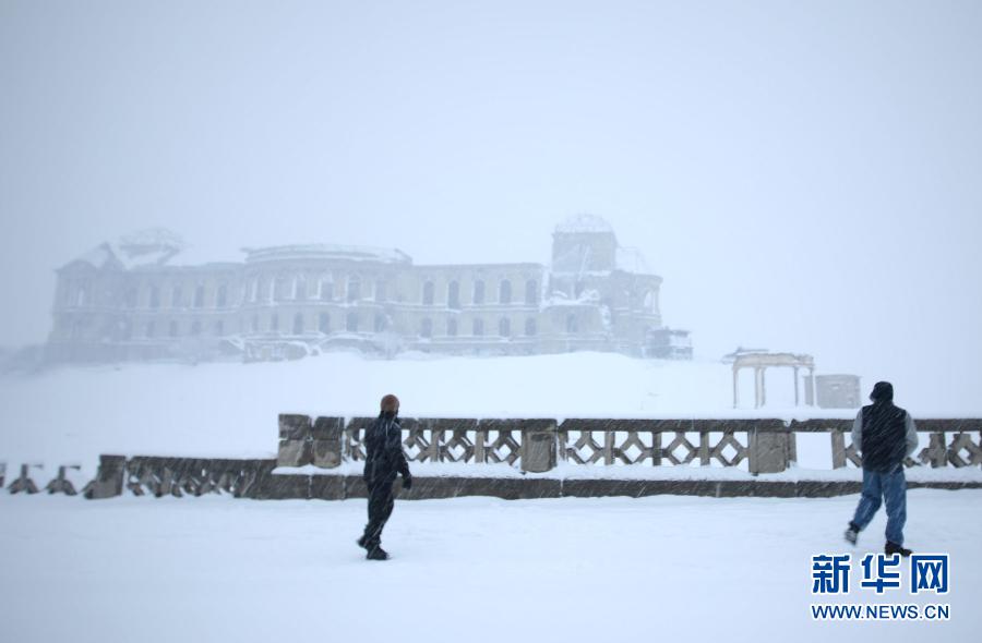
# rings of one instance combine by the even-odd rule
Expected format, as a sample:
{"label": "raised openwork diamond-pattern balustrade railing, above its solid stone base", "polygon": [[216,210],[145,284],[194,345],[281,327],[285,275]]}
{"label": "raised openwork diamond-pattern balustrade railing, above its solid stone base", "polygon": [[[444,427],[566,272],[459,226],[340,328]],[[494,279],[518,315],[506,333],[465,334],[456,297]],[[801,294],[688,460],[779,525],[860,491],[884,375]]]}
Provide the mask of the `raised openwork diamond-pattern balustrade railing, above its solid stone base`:
{"label": "raised openwork diamond-pattern balustrade railing, above its solid stone base", "polygon": [[[332,469],[364,460],[364,430],[372,417],[285,414],[279,417],[282,466]],[[541,473],[558,463],[582,465],[740,466],[752,474],[779,473],[797,461],[799,434],[828,434],[829,464],[861,465],[847,445],[851,420],[476,420],[405,418],[403,444],[416,462],[507,463]],[[982,420],[922,420],[929,445],[906,464],[932,468],[982,464]],[[975,436],[975,437],[973,437]]]}

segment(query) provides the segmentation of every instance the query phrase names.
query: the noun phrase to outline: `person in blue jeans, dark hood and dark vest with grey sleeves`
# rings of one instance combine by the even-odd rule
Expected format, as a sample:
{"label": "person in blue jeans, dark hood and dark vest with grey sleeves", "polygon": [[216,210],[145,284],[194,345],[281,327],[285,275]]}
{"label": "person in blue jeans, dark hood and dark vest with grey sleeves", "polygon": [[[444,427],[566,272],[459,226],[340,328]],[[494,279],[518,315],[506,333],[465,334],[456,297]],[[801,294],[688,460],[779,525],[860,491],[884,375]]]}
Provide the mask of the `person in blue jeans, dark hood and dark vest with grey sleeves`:
{"label": "person in blue jeans, dark hood and dark vest with grey sleeves", "polygon": [[910,549],[903,548],[907,522],[903,459],[918,448],[918,429],[910,413],[894,405],[894,386],[889,381],[877,381],[870,399],[873,403],[863,407],[852,423],[852,445],[863,458],[863,495],[846,530],[846,539],[855,545],[859,533],[886,500],[885,551],[910,556]]}

